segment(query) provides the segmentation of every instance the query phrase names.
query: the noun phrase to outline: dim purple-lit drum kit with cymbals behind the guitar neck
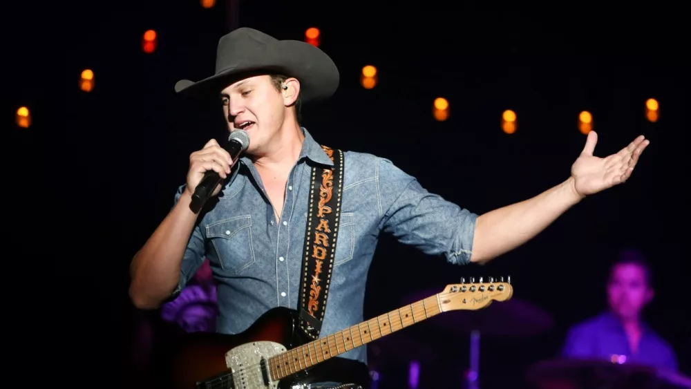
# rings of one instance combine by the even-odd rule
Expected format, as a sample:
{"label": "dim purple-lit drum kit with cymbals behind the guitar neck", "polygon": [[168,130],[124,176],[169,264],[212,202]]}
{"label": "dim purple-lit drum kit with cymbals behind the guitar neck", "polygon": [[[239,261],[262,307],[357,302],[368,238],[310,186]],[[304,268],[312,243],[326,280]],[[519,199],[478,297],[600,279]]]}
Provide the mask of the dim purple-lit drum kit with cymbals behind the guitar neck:
{"label": "dim purple-lit drum kit with cymbals behind the guitar neck", "polygon": [[[435,294],[423,290],[406,296],[404,303]],[[480,388],[480,335],[495,338],[527,338],[547,332],[553,326],[550,314],[513,296],[509,301],[493,303],[482,310],[444,312],[430,318],[429,328],[454,334],[470,334],[470,354],[466,381],[462,388]],[[405,344],[404,344],[405,343]],[[372,345],[370,364],[417,359],[432,360],[435,352],[415,336],[398,336],[386,343]],[[679,372],[648,366],[596,359],[551,359],[533,364],[522,377],[535,389],[691,389],[691,379]],[[422,387],[421,387],[422,389]]]}

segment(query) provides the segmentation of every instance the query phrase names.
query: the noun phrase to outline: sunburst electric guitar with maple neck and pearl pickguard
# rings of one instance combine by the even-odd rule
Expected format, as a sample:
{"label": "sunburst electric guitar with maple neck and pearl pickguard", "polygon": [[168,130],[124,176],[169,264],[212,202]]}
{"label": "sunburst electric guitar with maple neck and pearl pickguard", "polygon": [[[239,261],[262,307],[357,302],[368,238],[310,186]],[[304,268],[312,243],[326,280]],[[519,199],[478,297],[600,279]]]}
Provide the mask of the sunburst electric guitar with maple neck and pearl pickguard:
{"label": "sunburst electric guitar with maple neck and pearl pickguard", "polygon": [[493,301],[507,301],[512,294],[511,284],[504,283],[503,277],[500,282],[450,284],[433,296],[315,341],[300,335],[294,310],[276,307],[240,334],[188,334],[169,355],[166,387],[281,389],[314,382],[317,377],[310,377],[310,372],[343,352],[442,312],[480,310]]}

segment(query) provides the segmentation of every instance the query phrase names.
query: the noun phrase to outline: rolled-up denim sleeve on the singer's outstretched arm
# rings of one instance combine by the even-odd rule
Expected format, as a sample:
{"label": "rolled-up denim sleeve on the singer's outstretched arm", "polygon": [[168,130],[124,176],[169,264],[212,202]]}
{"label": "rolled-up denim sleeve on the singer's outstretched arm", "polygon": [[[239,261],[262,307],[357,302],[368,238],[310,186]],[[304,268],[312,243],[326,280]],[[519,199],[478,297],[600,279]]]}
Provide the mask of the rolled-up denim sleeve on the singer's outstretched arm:
{"label": "rolled-up denim sleeve on the singer's outstretched arm", "polygon": [[377,161],[380,228],[425,254],[466,265],[473,253],[477,215],[429,193],[386,159]]}

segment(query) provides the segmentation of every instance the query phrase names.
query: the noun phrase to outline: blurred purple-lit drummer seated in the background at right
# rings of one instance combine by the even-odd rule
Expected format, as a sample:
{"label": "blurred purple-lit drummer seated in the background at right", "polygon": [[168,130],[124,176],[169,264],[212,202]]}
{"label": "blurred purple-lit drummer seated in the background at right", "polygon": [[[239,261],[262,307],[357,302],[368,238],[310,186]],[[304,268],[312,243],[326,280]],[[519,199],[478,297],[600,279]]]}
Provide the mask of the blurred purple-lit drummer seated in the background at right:
{"label": "blurred purple-lit drummer seated in the background at right", "polygon": [[623,251],[609,271],[609,310],[569,330],[564,356],[676,370],[674,350],[641,319],[653,294],[650,268],[643,256]]}

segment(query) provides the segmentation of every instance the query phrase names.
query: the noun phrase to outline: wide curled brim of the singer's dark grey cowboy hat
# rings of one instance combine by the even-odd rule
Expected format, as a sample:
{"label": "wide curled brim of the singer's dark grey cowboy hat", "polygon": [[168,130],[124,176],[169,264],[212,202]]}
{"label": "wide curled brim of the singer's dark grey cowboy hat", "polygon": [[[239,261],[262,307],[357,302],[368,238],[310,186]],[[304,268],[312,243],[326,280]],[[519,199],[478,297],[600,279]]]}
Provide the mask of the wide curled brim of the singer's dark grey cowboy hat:
{"label": "wide curled brim of the singer's dark grey cowboy hat", "polygon": [[269,56],[221,70],[198,82],[181,79],[175,90],[181,95],[216,97],[223,89],[248,77],[278,74],[300,82],[303,103],[328,99],[339,86],[339,70],[322,50],[302,41],[276,41]]}

